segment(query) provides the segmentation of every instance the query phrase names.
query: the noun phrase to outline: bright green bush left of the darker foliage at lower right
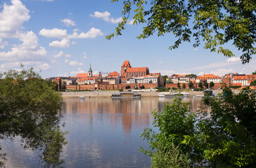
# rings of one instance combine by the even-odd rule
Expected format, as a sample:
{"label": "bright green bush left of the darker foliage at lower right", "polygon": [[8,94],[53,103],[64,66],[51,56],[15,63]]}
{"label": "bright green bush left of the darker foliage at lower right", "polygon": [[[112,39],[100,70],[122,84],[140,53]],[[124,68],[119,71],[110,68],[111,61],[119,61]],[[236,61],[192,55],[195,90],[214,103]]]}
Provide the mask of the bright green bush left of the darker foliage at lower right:
{"label": "bright green bush left of the darker foliage at lower right", "polygon": [[[185,162],[182,162],[181,160],[183,159],[180,158],[179,164],[186,163],[186,157],[184,157],[186,153],[193,155],[191,148],[181,143],[184,141],[185,135],[193,136],[196,132],[193,126],[195,124],[195,116],[193,113],[187,113],[187,111],[189,111],[188,103],[182,103],[181,99],[176,98],[172,104],[166,104],[162,113],[153,111],[153,126],[158,127],[159,132],[146,128],[141,134],[141,137],[150,144],[148,150],[141,148],[141,152],[151,156],[151,162],[155,162],[155,160],[164,161],[163,158],[170,159],[168,153],[174,152],[174,148],[177,148],[177,146],[179,146],[179,151],[174,152],[177,153],[175,158],[181,157],[185,160]],[[163,157],[159,157],[159,153],[162,153]],[[165,160],[165,162],[168,162],[168,160]],[[167,165],[174,165],[174,162],[169,161]]]}

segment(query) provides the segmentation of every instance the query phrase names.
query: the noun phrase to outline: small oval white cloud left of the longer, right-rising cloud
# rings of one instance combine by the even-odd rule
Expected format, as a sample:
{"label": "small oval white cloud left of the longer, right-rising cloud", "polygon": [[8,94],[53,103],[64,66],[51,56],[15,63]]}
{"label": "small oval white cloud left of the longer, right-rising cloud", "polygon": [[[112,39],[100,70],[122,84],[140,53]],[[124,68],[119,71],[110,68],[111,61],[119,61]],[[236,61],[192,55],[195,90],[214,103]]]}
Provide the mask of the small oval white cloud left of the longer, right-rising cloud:
{"label": "small oval white cloud left of the longer, right-rising cloud", "polygon": [[68,36],[66,29],[57,29],[57,28],[41,29],[39,31],[39,35],[46,36],[49,38],[65,38],[66,36]]}

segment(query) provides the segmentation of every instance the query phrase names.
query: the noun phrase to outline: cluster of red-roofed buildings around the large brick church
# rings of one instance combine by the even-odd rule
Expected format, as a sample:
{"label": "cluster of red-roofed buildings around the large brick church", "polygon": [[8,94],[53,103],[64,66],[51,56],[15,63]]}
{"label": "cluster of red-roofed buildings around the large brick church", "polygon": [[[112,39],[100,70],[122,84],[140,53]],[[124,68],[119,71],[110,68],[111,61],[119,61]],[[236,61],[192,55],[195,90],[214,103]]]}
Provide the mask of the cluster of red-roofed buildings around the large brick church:
{"label": "cluster of red-roofed buildings around the large brick church", "polygon": [[[61,82],[58,83],[57,80],[61,80]],[[164,86],[164,79],[160,76],[160,73],[149,73],[148,67],[132,67],[129,61],[124,61],[121,66],[121,73],[113,71],[110,73],[99,72],[98,75],[93,75],[90,64],[88,73],[78,73],[77,76],[72,77],[55,78],[55,81],[59,85],[92,85],[94,83],[104,83],[104,85],[152,83],[155,84],[155,87]]]}

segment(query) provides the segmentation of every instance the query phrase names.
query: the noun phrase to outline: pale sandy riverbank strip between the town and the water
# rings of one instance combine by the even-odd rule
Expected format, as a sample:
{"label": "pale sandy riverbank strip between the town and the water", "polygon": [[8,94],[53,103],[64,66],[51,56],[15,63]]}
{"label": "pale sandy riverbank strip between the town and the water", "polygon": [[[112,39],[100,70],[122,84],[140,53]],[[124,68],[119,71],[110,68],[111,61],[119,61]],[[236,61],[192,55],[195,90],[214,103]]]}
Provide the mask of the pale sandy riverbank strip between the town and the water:
{"label": "pale sandy riverbank strip between the town and the water", "polygon": [[[240,90],[232,90],[235,93],[241,92]],[[213,90],[215,94],[219,94],[222,92],[222,90]],[[62,97],[111,97],[112,94],[120,93],[119,91],[96,91],[96,92],[61,92]],[[158,97],[160,93],[167,93],[167,92],[139,92],[141,94],[141,97]],[[191,97],[203,95],[203,92],[200,91],[187,91],[185,93],[190,94]]]}

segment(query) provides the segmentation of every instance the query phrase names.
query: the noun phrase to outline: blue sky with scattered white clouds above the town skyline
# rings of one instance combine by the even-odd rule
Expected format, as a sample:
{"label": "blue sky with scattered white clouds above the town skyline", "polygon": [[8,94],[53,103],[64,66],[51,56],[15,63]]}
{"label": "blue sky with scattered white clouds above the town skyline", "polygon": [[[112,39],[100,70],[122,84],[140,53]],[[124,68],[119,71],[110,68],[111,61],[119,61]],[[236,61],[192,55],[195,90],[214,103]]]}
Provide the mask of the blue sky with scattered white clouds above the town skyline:
{"label": "blue sky with scattered white clouds above the town skyline", "polygon": [[256,70],[256,58],[241,64],[241,52],[226,46],[236,57],[193,48],[183,43],[168,50],[175,38],[151,36],[138,40],[143,25],[127,25],[122,36],[106,40],[120,21],[122,1],[110,0],[4,0],[0,1],[0,71],[33,67],[43,78],[76,76],[87,72],[117,71],[124,60],[147,66],[151,72],[247,73]]}

